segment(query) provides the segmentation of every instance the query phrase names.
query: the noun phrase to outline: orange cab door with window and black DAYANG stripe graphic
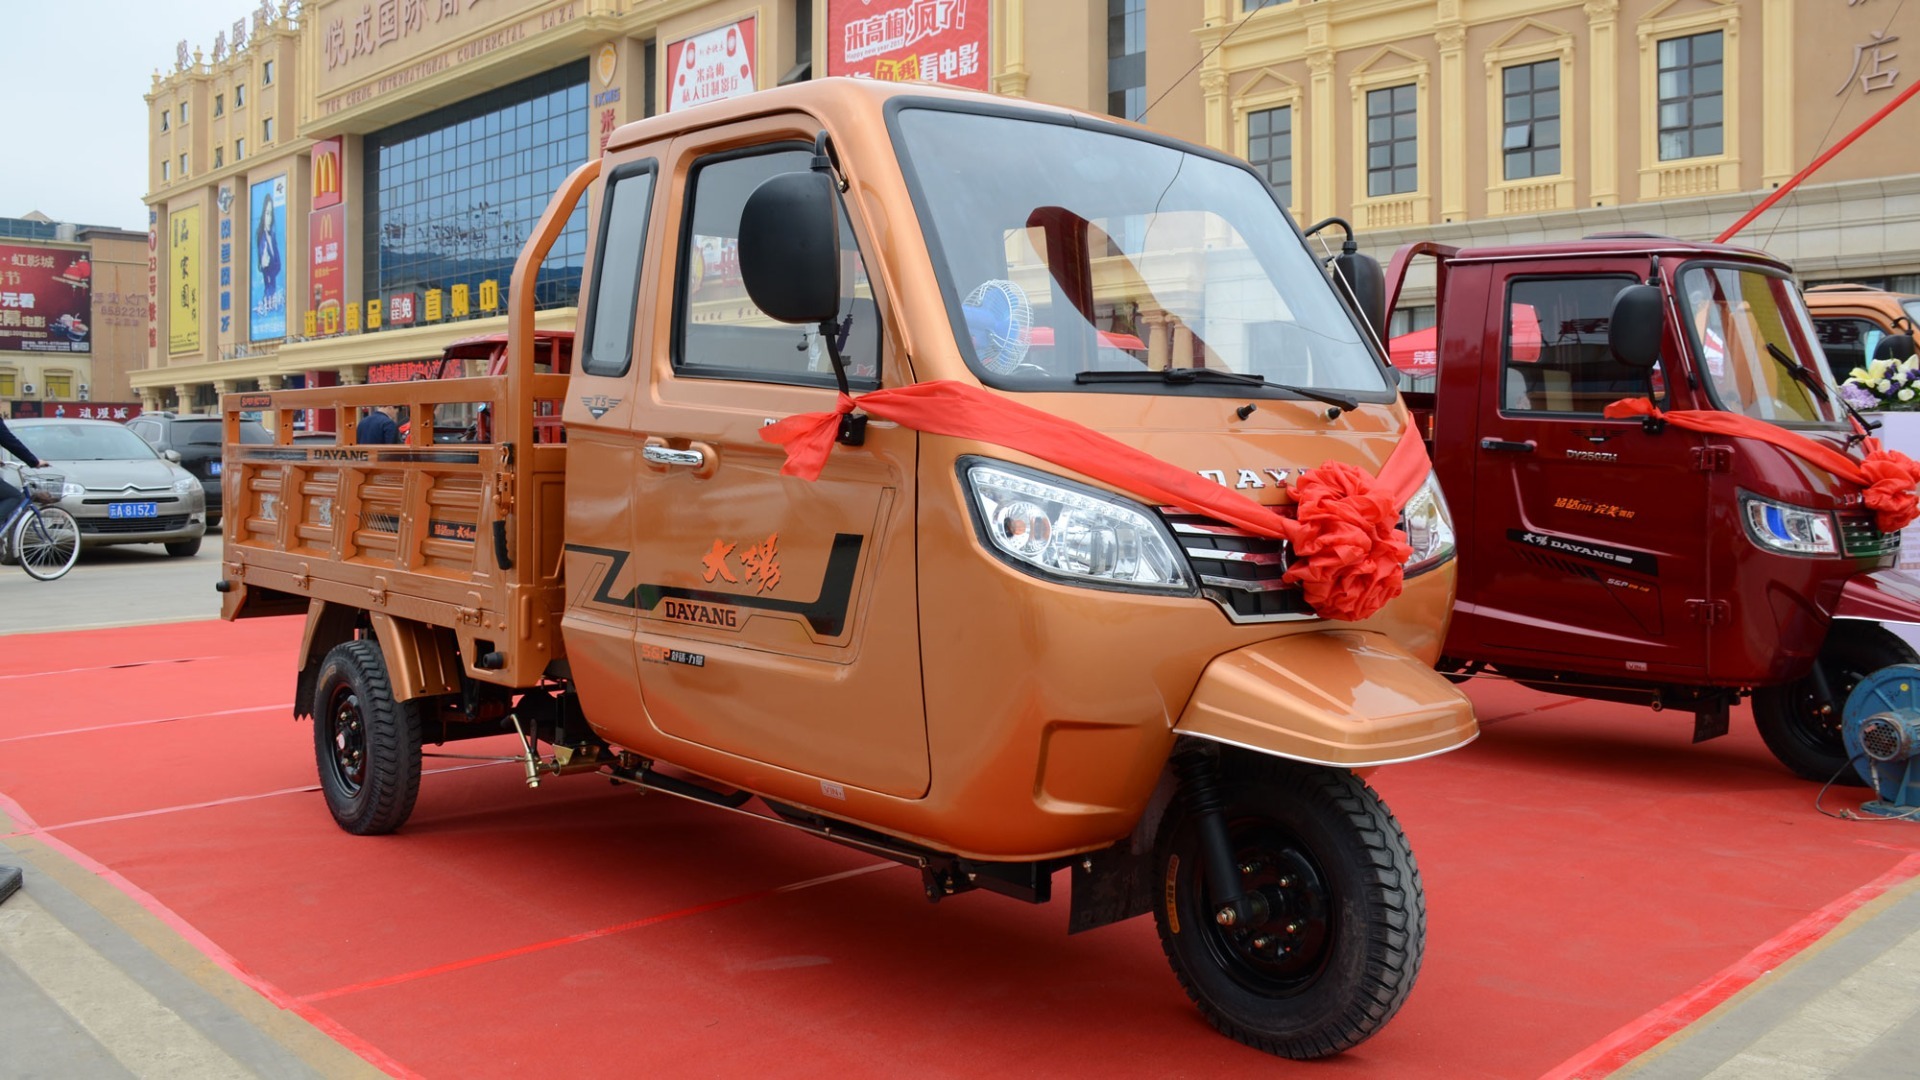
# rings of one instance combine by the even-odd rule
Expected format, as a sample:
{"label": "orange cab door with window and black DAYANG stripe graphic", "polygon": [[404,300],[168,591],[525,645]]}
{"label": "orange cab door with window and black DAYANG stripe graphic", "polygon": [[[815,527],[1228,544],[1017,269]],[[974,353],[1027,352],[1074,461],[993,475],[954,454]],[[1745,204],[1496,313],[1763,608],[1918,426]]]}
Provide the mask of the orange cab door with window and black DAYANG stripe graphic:
{"label": "orange cab door with window and black DAYANG stripe graphic", "polygon": [[[816,329],[766,317],[737,259],[747,196],[804,171],[818,129],[764,117],[674,142],[672,258],[634,417],[641,696],[660,732],[818,776],[829,796],[922,796],[916,432],[874,423],[812,482],[781,477],[785,452],[760,440],[776,419],[835,404]],[[841,336],[858,394],[908,375],[841,221]]]}

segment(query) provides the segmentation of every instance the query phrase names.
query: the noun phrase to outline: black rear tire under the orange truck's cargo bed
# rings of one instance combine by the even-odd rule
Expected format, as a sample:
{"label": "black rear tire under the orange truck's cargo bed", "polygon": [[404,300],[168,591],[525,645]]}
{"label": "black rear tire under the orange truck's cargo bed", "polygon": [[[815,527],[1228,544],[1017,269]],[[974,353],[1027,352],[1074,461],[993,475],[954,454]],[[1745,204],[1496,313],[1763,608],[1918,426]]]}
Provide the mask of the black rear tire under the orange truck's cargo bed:
{"label": "black rear tire under the orange truck's cargo bed", "polygon": [[344,642],[313,688],[313,757],[334,822],[355,836],[405,824],[420,794],[420,715],[394,701],[372,642]]}

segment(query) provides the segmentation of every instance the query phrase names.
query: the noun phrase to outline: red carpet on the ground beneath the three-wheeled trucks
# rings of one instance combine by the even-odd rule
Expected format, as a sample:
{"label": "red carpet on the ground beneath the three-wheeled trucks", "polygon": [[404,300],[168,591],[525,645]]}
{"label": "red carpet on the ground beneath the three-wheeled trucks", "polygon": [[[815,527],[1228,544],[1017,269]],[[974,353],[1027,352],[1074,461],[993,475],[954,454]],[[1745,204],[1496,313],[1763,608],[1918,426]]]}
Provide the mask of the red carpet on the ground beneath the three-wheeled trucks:
{"label": "red carpet on the ground beneath the three-wheeled trucks", "polygon": [[1292,1065],[1200,1020],[1150,920],[1068,938],[1064,880],[935,907],[818,840],[449,759],[401,834],[348,836],[290,719],[298,642],[8,638],[0,809],[420,1076],[1599,1076],[1920,872],[1920,826],[1818,815],[1745,715],[1695,748],[1686,715],[1475,686],[1480,742],[1373,776],[1427,882],[1421,982]]}

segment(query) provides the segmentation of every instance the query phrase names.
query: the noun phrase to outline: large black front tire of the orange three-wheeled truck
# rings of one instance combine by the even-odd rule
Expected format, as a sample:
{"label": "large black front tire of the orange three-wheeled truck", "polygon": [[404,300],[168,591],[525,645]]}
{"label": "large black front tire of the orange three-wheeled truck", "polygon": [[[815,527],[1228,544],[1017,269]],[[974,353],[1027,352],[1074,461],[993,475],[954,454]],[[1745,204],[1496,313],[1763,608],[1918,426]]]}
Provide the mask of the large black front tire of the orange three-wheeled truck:
{"label": "large black front tire of the orange three-wheeled truck", "polygon": [[1292,1059],[1329,1057],[1405,1003],[1427,947],[1427,899],[1400,822],[1359,776],[1246,751],[1221,755],[1221,799],[1250,926],[1215,922],[1183,794],[1154,842],[1154,924],[1187,997],[1223,1036]]}

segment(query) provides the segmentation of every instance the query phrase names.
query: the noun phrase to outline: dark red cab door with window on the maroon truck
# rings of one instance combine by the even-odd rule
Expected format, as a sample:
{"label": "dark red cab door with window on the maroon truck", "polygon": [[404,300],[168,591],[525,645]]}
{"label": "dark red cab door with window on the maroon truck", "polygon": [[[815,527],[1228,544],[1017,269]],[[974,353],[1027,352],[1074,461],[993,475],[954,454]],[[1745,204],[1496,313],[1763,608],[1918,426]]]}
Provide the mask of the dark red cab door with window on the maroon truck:
{"label": "dark red cab door with window on the maroon truck", "polygon": [[1630,265],[1490,275],[1461,567],[1469,655],[1622,676],[1705,671],[1707,625],[1688,603],[1709,596],[1701,438],[1601,415],[1649,392],[1665,407],[1667,373],[1682,371],[1672,332],[1651,373],[1613,357],[1607,325],[1628,284]]}

